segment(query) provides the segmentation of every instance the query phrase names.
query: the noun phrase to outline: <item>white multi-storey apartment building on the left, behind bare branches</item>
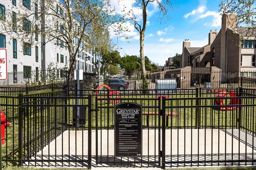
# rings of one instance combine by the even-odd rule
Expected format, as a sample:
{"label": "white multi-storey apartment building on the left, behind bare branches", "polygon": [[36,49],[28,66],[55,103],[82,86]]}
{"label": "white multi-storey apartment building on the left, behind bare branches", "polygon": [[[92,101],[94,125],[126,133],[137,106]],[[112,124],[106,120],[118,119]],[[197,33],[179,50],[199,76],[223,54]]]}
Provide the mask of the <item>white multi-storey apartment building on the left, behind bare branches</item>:
{"label": "white multi-storey apartment building on the left, behind bare branches", "polygon": [[[60,4],[60,3],[58,3]],[[56,10],[59,15],[64,15],[63,7],[55,2]],[[23,79],[31,78],[31,72],[39,72],[49,68],[50,65],[56,68],[69,68],[69,51],[67,45],[57,39],[49,41],[49,37],[41,36],[37,33],[29,33],[32,27],[52,28],[56,27],[61,31],[61,24],[49,22],[51,18],[39,17],[37,14],[44,6],[43,0],[0,0],[0,48],[7,49],[8,72],[14,72],[13,77],[9,77],[9,83],[17,83],[17,73],[23,72]],[[31,14],[23,21],[16,19],[22,14]],[[40,22],[39,20],[44,20]],[[10,22],[12,23],[10,25]],[[35,24],[35,25],[32,25]],[[9,27],[9,28],[8,28]],[[15,32],[6,31],[8,29],[21,28],[28,32],[27,38],[17,37]],[[7,33],[8,32],[8,33]],[[48,38],[48,39],[47,39]],[[74,38],[75,45],[78,45],[77,38]],[[96,55],[93,50],[84,49],[81,42],[77,55],[77,65],[80,69],[95,71],[93,62]],[[78,64],[79,63],[79,64]]]}

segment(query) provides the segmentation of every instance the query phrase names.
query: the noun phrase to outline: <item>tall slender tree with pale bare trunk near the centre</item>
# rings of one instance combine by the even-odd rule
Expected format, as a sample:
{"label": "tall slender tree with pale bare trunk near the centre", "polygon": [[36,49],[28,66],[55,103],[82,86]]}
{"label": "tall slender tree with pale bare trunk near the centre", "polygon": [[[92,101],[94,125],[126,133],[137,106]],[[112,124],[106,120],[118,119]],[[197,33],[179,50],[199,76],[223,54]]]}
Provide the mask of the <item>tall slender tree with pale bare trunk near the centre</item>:
{"label": "tall slender tree with pale bare trunk near the centre", "polygon": [[142,9],[142,18],[143,21],[140,23],[138,17],[135,16],[133,18],[134,27],[140,34],[140,60],[141,60],[141,71],[143,76],[143,89],[148,87],[146,82],[146,69],[145,69],[145,56],[144,56],[144,37],[146,30],[146,22],[147,22],[147,7],[149,3],[156,3],[159,8],[160,20],[163,18],[168,18],[167,14],[169,8],[172,9],[172,2],[170,0],[136,0],[137,7]]}

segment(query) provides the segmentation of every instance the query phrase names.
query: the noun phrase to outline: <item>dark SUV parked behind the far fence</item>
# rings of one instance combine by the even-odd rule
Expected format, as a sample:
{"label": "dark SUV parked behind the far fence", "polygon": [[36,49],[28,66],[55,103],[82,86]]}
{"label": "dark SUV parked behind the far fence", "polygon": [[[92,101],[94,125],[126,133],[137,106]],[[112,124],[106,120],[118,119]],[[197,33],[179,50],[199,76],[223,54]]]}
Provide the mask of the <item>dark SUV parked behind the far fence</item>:
{"label": "dark SUV parked behind the far fence", "polygon": [[[128,80],[125,80],[125,79],[110,78],[105,80],[105,84],[107,84],[112,90],[128,89]],[[94,88],[96,89],[98,86],[99,86],[99,82],[95,82]]]}

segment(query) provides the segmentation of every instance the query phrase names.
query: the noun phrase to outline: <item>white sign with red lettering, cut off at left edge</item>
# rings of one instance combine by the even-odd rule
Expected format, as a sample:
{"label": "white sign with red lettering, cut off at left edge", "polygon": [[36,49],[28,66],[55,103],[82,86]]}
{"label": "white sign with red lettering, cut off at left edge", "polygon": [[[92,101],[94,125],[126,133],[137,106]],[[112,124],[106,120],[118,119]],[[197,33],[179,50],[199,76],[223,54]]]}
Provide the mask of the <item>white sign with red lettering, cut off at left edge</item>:
{"label": "white sign with red lettering, cut off at left edge", "polygon": [[0,48],[0,80],[7,79],[7,50]]}

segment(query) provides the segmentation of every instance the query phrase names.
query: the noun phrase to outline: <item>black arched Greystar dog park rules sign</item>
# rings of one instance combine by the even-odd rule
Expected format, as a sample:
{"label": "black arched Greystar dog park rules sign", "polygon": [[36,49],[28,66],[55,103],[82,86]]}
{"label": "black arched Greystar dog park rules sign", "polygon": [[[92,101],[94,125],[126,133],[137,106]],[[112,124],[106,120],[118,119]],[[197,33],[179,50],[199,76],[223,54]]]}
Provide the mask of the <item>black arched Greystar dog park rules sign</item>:
{"label": "black arched Greystar dog park rules sign", "polygon": [[142,106],[125,102],[115,106],[115,156],[142,156]]}

